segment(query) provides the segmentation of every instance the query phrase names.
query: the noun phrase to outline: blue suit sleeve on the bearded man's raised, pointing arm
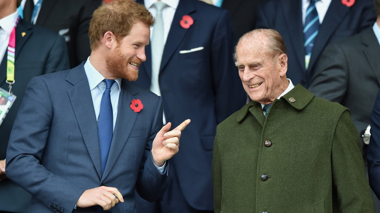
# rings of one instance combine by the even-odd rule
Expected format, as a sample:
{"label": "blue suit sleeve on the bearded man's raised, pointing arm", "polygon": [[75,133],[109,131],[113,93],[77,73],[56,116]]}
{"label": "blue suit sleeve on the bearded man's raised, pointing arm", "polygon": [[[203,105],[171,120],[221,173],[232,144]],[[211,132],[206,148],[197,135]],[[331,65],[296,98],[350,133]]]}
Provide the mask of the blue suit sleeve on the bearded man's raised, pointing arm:
{"label": "blue suit sleeve on the bearded man's raised, pointing arm", "polygon": [[154,113],[155,116],[152,123],[151,132],[145,147],[144,159],[146,159],[146,161],[140,166],[139,177],[136,182],[136,191],[138,194],[150,202],[153,202],[161,197],[161,195],[165,192],[169,181],[169,161],[167,161],[164,174],[161,174],[153,163],[151,153],[152,142],[156,134],[162,128],[162,112],[162,98],[159,97],[156,111]]}

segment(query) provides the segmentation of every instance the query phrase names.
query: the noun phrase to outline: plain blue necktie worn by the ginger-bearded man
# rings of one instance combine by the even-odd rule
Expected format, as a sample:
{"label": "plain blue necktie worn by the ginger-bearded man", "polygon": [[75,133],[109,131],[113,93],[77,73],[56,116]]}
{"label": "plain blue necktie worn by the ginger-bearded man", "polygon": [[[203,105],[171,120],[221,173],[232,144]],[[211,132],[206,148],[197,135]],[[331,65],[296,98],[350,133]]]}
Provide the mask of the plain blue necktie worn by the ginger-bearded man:
{"label": "plain blue necktie worn by the ginger-bearded man", "polygon": [[108,153],[110,151],[112,136],[114,133],[114,114],[111,104],[111,87],[115,80],[104,79],[106,90],[103,92],[100,102],[99,118],[97,120],[97,133],[100,144],[100,157],[102,162],[102,175],[106,168]]}

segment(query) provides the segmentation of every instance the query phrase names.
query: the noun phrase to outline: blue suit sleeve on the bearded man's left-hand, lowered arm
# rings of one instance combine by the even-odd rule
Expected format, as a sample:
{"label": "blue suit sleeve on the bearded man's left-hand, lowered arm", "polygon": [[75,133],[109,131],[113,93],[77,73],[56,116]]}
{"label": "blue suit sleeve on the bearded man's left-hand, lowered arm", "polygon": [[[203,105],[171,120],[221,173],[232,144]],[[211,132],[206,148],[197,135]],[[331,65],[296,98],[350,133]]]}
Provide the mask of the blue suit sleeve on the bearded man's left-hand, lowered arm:
{"label": "blue suit sleeve on the bearded man's left-hand, lowered arm", "polygon": [[7,176],[47,207],[73,210],[83,190],[48,171],[39,162],[48,141],[53,109],[46,83],[34,77],[28,84],[6,153]]}

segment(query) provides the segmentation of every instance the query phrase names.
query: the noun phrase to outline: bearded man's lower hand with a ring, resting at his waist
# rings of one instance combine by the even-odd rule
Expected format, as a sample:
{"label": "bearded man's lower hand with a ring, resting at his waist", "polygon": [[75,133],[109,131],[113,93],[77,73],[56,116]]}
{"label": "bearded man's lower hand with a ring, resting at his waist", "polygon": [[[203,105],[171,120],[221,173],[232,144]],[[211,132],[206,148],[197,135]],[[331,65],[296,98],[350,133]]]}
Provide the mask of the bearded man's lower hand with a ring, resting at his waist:
{"label": "bearded man's lower hand with a ring, resting at his waist", "polygon": [[110,210],[118,202],[124,202],[123,195],[114,187],[100,186],[94,189],[88,189],[80,195],[76,206],[86,208],[99,205],[103,210]]}

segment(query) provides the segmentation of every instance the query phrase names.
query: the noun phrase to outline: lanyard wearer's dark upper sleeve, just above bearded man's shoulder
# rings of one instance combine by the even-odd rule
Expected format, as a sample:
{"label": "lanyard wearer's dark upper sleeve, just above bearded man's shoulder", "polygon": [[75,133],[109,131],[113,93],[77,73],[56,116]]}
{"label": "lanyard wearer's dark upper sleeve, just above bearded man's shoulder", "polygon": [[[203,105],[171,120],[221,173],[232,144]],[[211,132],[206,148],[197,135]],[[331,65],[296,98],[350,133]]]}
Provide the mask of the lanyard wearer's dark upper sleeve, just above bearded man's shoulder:
{"label": "lanyard wearer's dark upper sleeve, just above bearded man's shoulder", "polygon": [[46,60],[44,74],[70,69],[69,54],[65,39],[57,35]]}

